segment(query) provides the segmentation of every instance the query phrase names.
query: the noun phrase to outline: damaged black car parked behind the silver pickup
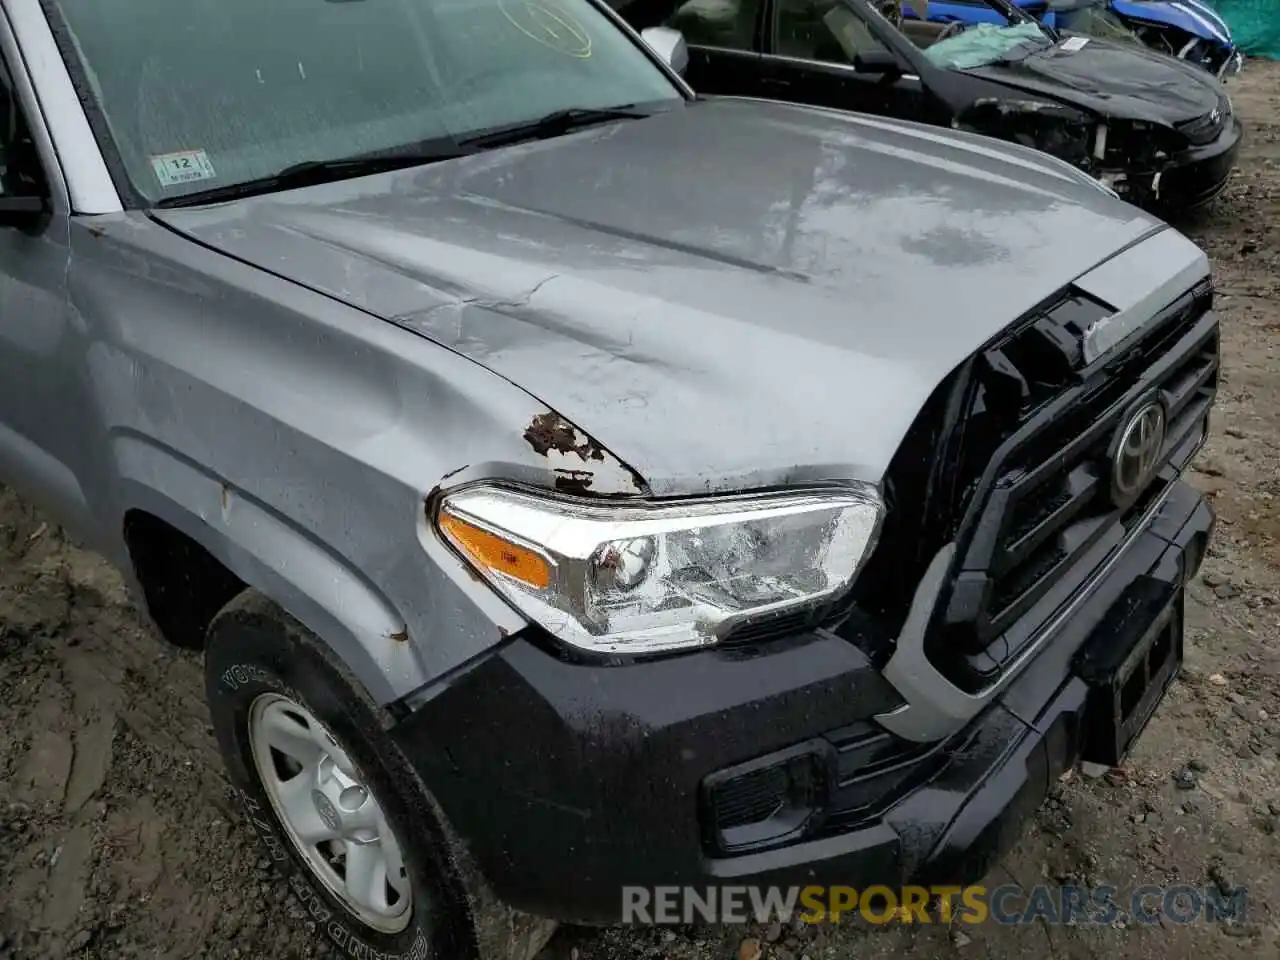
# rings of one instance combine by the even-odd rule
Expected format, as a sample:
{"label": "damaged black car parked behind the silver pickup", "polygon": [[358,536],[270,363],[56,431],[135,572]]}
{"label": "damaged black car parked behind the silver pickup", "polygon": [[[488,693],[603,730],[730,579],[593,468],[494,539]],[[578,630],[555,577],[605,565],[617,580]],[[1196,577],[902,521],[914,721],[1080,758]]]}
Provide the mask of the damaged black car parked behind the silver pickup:
{"label": "damaged black car parked behind the silver pickup", "polygon": [[[904,3],[911,17],[904,17]],[[1222,84],[1133,44],[1006,22],[936,23],[928,0],[613,0],[689,45],[700,93],[791,100],[1037,147],[1161,212],[1212,201],[1242,127]]]}

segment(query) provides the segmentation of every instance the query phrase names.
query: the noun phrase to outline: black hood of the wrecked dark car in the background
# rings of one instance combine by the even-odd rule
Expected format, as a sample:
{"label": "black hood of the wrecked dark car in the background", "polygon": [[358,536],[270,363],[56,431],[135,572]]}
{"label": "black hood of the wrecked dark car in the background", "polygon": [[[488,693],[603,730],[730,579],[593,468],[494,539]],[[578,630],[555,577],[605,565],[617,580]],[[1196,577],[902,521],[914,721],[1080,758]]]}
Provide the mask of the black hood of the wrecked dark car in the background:
{"label": "black hood of the wrecked dark car in the background", "polygon": [[1222,102],[1221,84],[1204,70],[1137,45],[1069,38],[1016,61],[965,73],[1084,106],[1102,115],[1167,125],[1204,116]]}

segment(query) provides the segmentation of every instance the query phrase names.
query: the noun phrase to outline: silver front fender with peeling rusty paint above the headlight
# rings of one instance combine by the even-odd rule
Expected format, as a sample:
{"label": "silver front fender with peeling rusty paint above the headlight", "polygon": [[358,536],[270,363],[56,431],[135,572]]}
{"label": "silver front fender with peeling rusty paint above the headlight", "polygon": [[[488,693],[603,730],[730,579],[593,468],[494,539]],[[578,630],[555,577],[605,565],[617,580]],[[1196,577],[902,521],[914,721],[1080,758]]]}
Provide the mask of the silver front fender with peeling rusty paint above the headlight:
{"label": "silver front fender with peeling rusty paint above the headlight", "polygon": [[78,230],[90,410],[81,485],[124,568],[129,511],[182,531],[323,637],[379,703],[525,626],[428,524],[503,479],[593,495],[644,480],[475,361],[141,215]]}

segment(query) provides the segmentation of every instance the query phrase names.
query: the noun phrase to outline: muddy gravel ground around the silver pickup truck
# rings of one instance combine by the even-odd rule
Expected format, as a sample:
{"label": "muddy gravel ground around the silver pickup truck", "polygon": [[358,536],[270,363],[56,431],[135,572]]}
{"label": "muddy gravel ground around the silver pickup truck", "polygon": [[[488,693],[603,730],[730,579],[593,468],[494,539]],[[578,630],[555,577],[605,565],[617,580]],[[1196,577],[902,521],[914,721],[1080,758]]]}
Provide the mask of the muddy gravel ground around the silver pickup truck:
{"label": "muddy gravel ground around the silver pickup truck", "polygon": [[[1280,64],[1251,63],[1233,93],[1240,170],[1187,225],[1216,266],[1226,361],[1193,475],[1220,526],[1187,668],[1126,767],[1066,778],[987,883],[1243,886],[1244,922],[564,929],[549,957],[1280,956]],[[326,950],[230,800],[198,658],[0,489],[0,960]]]}

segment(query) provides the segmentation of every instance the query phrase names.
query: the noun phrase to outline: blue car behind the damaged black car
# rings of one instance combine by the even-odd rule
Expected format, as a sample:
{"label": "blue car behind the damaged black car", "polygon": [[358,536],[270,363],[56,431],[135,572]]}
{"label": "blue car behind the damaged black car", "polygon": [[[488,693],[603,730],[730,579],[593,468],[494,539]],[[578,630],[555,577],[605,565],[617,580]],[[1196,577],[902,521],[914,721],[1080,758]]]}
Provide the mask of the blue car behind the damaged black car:
{"label": "blue car behind the damaged black car", "polygon": [[[1047,27],[1103,40],[1132,40],[1203,67],[1219,78],[1239,73],[1243,54],[1226,22],[1204,0],[1012,0]],[[902,13],[913,17],[911,0]],[[983,0],[932,0],[940,22],[1002,23]]]}

